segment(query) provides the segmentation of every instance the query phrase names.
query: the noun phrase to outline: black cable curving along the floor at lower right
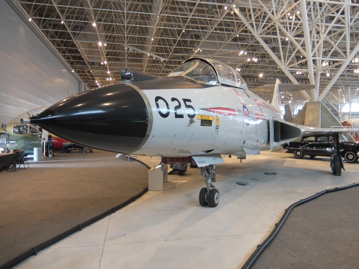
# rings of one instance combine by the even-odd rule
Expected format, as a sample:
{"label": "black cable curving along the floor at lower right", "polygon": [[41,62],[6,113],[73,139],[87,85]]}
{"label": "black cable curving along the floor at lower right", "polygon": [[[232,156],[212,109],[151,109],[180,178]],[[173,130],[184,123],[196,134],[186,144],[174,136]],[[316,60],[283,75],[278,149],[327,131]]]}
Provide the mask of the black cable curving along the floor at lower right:
{"label": "black cable curving along the floor at lower right", "polygon": [[359,186],[359,183],[353,183],[353,184],[342,186],[342,187],[335,187],[335,188],[331,188],[331,189],[326,189],[326,190],[323,190],[321,192],[317,192],[316,194],[314,194],[312,196],[309,196],[308,198],[301,199],[298,202],[292,203],[285,210],[285,213],[283,214],[282,218],[280,218],[279,221],[277,223],[275,223],[274,229],[270,233],[270,235],[268,235],[268,237],[266,239],[264,239],[264,241],[257,246],[256,250],[252,253],[252,255],[249,257],[249,259],[244,263],[244,265],[242,266],[242,269],[251,269],[253,267],[256,260],[259,258],[259,256],[272,243],[275,236],[279,233],[280,228],[282,228],[284,222],[288,219],[288,216],[289,216],[289,214],[291,213],[291,211],[293,210],[294,207],[297,207],[298,205],[301,205],[303,203],[312,201],[315,198],[318,198],[318,197],[322,196],[325,193],[334,192],[334,191],[338,191],[338,190],[344,190],[344,189],[348,189],[348,188],[355,187],[355,186]]}

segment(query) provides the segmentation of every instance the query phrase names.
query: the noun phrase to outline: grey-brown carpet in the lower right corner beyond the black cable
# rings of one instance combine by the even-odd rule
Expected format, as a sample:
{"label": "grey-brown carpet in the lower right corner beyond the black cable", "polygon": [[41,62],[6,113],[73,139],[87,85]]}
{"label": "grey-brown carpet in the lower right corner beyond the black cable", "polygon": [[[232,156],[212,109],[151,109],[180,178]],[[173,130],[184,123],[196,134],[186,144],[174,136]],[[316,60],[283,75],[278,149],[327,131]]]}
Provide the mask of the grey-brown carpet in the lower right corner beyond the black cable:
{"label": "grey-brown carpet in the lower right corner beyond the black cable", "polygon": [[359,268],[359,186],[293,209],[253,269]]}

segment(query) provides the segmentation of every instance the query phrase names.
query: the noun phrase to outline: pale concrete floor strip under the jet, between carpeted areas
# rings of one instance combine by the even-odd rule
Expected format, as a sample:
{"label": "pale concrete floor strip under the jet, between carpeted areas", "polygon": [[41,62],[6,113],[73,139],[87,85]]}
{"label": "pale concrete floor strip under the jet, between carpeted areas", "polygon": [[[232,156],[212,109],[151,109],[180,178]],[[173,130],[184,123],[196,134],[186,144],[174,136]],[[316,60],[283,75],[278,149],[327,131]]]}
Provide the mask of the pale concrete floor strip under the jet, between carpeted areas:
{"label": "pale concrete floor strip under the jet, between carpeted areas", "polygon": [[346,171],[336,177],[328,158],[297,160],[261,152],[242,164],[228,157],[225,162],[217,166],[218,207],[199,205],[205,184],[199,169],[191,168],[182,177],[169,176],[164,191],[147,192],[16,268],[240,268],[291,203],[358,181],[359,164],[345,164]]}

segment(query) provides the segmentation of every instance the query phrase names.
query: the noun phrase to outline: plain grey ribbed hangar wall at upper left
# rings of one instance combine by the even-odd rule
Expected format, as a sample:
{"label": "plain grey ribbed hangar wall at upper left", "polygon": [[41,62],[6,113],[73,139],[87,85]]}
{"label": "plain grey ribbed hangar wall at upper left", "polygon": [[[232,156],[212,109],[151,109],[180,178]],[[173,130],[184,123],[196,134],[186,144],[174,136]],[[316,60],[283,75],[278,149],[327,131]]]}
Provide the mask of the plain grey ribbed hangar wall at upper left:
{"label": "plain grey ribbed hangar wall at upper left", "polygon": [[0,1],[0,127],[82,85],[6,1]]}

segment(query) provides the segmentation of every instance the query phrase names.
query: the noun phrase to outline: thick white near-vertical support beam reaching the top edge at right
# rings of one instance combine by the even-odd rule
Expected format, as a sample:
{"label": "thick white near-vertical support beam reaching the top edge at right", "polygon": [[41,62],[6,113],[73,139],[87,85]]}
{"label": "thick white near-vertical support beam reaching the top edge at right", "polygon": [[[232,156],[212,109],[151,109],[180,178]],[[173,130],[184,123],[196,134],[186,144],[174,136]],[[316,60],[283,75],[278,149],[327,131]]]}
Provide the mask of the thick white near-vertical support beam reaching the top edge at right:
{"label": "thick white near-vertical support beam reaching the top edge at right", "polygon": [[[317,85],[315,84],[315,80],[314,80],[313,59],[312,59],[312,53],[311,53],[312,52],[311,51],[312,46],[311,46],[311,43],[310,43],[310,33],[309,33],[309,25],[308,25],[306,0],[300,0],[300,7],[301,7],[301,10],[302,10],[304,42],[306,44],[306,51],[307,51],[307,65],[308,65],[309,83],[315,85],[315,88],[317,88]],[[319,87],[319,85],[318,85],[318,87]],[[315,94],[315,88],[310,90],[312,101],[315,101],[317,99],[316,94]]]}

